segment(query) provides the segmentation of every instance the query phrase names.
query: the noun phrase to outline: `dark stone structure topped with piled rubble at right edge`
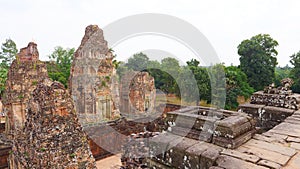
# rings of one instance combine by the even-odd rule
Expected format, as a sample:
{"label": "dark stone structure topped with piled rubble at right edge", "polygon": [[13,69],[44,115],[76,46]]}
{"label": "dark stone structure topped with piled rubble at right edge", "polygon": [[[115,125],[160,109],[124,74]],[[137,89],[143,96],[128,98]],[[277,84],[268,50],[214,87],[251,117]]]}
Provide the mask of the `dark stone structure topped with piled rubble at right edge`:
{"label": "dark stone structure topped with piled rubble at right edge", "polygon": [[281,80],[281,86],[271,84],[264,91],[258,91],[251,96],[250,103],[239,106],[240,112],[245,112],[257,120],[257,127],[269,130],[299,109],[300,95],[292,93],[290,87],[293,80]]}

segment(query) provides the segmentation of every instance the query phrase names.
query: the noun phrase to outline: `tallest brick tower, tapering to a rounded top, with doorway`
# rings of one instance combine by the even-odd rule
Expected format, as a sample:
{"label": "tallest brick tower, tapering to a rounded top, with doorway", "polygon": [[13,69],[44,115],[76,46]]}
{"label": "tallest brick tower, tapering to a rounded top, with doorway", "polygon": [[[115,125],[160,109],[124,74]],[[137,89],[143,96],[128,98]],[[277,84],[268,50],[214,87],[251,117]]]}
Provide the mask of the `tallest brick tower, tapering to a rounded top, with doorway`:
{"label": "tallest brick tower, tapering to a rounded top, with doorway", "polygon": [[75,52],[70,90],[82,124],[113,119],[118,110],[118,85],[103,31],[96,25],[85,30]]}

